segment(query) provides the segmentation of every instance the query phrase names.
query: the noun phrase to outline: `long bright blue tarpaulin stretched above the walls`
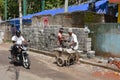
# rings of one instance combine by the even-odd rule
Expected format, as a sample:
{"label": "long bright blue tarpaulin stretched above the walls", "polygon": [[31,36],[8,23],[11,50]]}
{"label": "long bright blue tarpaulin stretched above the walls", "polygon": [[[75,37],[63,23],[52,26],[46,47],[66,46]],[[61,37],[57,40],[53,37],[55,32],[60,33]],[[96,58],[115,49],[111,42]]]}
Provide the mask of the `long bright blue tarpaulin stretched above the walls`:
{"label": "long bright blue tarpaulin stretched above the walls", "polygon": [[[107,14],[108,10],[108,0],[100,0],[95,3],[95,10],[96,13],[99,14]],[[74,6],[69,6],[68,7],[68,12],[75,12],[75,11],[87,11],[89,8],[89,3],[86,4],[80,4],[80,5],[74,5]],[[51,9],[51,10],[44,10],[35,14],[28,14],[26,16],[22,17],[22,22],[23,24],[29,24],[31,23],[31,19],[33,16],[39,16],[39,15],[56,15],[58,13],[64,13],[64,8],[56,8],[56,9]],[[19,18],[11,19],[9,20],[10,24],[19,26]]]}

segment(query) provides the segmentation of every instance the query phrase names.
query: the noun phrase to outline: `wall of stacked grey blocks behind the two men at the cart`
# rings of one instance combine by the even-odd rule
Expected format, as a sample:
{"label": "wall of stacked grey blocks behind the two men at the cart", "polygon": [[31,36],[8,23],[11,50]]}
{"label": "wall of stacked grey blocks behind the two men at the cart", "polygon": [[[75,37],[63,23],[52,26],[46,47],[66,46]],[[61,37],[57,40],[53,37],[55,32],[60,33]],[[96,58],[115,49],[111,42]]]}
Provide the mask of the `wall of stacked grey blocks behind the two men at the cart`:
{"label": "wall of stacked grey blocks behind the two men at the cart", "polygon": [[[23,35],[27,40],[30,40],[30,47],[38,50],[53,51],[57,48],[57,34],[61,26],[51,25],[47,28],[41,27],[25,27]],[[65,34],[69,27],[64,27]],[[83,28],[72,28],[77,35],[79,41],[79,50],[91,50],[91,39],[88,38],[88,33],[85,33]]]}

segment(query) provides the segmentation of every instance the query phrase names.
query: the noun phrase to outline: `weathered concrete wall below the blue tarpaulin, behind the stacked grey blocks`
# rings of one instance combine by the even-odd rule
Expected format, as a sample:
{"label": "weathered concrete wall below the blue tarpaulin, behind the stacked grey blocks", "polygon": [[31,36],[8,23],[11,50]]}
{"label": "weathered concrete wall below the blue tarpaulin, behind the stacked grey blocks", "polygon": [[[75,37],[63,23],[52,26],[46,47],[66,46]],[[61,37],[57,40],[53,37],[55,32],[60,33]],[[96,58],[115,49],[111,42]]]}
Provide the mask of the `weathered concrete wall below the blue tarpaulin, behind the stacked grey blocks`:
{"label": "weathered concrete wall below the blue tarpaulin, behind the stacked grey blocks", "polygon": [[[106,18],[107,17],[107,18]],[[86,23],[116,22],[117,18],[109,15],[96,14],[94,12],[61,13],[54,16],[40,15],[32,18],[33,26],[62,25],[64,27],[83,28]]]}

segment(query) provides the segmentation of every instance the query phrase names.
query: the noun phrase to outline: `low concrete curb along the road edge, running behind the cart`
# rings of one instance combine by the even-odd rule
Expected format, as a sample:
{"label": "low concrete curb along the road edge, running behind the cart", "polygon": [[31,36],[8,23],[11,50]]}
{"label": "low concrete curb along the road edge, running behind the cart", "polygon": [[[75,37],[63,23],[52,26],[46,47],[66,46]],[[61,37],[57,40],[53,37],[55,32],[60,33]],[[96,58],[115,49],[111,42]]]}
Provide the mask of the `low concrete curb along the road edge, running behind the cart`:
{"label": "low concrete curb along the road edge, running behind the cart", "polygon": [[[51,54],[51,52],[48,52],[48,51],[37,50],[37,49],[33,49],[33,48],[30,48],[29,51],[36,52],[38,54],[44,54],[44,55],[50,56],[50,57],[55,57],[54,54]],[[110,69],[110,70],[113,70],[113,71],[116,71],[116,72],[120,72],[120,69],[115,69],[115,68],[107,66],[105,64],[90,62],[88,60],[83,60],[83,59],[80,59],[80,62],[84,63],[84,64],[90,64],[90,65],[93,65],[93,66],[99,66],[99,67],[102,67],[102,68],[106,68],[106,69]]]}

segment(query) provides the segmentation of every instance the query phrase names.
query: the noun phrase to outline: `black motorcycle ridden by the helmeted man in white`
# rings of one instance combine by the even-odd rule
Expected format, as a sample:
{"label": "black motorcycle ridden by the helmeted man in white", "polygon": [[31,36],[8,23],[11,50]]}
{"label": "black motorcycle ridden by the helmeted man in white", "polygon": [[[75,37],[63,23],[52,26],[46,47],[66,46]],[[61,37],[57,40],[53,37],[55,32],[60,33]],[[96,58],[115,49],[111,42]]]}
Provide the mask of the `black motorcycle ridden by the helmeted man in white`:
{"label": "black motorcycle ridden by the helmeted man in white", "polygon": [[22,64],[24,68],[29,69],[30,59],[27,53],[27,45],[16,45],[15,49],[14,52],[16,55],[14,55],[12,49],[10,50],[12,62]]}

